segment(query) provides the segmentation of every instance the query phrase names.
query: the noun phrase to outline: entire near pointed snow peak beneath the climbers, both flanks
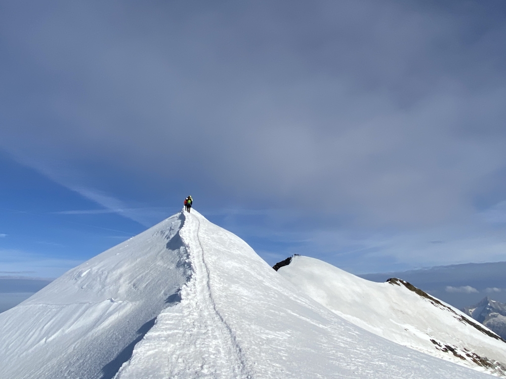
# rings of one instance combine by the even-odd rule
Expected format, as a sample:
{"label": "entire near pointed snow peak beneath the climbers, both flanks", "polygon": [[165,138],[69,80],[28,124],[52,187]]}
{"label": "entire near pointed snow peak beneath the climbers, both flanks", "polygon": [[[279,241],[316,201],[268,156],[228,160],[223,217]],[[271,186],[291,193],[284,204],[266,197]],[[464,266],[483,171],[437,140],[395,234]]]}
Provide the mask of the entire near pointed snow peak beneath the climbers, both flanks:
{"label": "entire near pointed snow peak beneath the climbers, both flanks", "polygon": [[344,320],[194,210],[0,314],[0,339],[3,379],[489,377]]}

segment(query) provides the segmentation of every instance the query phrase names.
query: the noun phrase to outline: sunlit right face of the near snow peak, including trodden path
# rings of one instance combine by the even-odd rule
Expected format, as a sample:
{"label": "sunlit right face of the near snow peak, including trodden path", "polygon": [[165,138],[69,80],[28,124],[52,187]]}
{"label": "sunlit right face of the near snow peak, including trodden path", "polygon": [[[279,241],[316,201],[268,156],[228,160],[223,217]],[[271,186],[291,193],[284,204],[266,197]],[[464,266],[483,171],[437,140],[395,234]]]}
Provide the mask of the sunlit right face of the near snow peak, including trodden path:
{"label": "sunlit right face of the near snow peak, including trodden path", "polygon": [[181,236],[192,278],[116,379],[489,377],[343,320],[193,209]]}

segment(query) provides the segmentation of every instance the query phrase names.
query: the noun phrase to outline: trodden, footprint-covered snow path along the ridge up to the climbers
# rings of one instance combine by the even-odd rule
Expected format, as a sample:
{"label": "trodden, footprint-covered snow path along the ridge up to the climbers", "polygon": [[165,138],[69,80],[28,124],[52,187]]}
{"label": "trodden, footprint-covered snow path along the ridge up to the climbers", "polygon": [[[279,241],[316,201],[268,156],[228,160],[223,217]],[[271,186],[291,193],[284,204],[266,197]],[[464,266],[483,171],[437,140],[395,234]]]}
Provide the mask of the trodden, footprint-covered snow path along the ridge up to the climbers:
{"label": "trodden, footprint-covered snow path along the ridge up to the climbers", "polygon": [[251,378],[235,335],[213,299],[199,229],[200,220],[187,214],[180,236],[193,274],[181,290],[181,303],[160,313],[117,379]]}

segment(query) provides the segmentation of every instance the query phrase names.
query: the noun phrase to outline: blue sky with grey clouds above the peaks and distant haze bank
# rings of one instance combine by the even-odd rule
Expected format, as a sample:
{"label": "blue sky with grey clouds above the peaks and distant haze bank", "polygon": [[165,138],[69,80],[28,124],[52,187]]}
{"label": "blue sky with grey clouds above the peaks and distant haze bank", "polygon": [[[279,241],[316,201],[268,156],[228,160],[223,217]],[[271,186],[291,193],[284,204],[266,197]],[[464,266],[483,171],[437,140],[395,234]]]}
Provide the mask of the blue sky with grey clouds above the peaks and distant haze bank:
{"label": "blue sky with grey clouds above the peaks and distant haze bank", "polygon": [[506,261],[503,1],[0,7],[0,275],[188,195],[270,264]]}

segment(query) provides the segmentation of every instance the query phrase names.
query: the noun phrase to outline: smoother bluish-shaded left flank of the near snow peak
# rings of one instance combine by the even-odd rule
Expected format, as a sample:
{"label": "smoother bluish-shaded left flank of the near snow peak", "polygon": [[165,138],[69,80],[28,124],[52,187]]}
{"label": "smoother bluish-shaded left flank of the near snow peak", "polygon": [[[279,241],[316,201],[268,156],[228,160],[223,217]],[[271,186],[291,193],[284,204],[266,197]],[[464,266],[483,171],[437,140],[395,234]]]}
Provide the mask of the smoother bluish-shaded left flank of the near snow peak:
{"label": "smoother bluish-shaded left flank of the near snow peak", "polygon": [[0,376],[112,378],[189,280],[183,221],[166,219],[0,314]]}

